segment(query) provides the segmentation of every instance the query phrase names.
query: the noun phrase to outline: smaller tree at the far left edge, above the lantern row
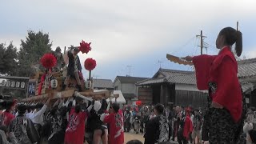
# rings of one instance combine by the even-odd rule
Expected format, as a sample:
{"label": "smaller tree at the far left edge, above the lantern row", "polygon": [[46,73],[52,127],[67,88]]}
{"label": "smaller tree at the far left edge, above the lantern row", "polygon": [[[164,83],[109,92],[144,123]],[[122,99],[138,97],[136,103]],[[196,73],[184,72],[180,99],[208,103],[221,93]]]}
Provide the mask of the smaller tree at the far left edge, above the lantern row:
{"label": "smaller tree at the far left edge, above the lantern row", "polygon": [[14,75],[18,64],[17,48],[10,42],[9,46],[0,44],[0,74]]}

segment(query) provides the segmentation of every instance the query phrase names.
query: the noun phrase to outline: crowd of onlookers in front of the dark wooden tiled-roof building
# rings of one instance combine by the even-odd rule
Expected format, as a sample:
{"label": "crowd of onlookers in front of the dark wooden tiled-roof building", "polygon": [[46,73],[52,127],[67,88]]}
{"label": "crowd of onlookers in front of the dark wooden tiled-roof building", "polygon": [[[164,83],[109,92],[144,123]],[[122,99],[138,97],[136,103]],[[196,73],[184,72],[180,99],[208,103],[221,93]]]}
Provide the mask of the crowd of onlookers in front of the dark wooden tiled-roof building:
{"label": "crowd of onlookers in front of the dark wooden tiled-roof building", "polygon": [[[161,126],[164,129],[162,130],[162,134],[159,134],[158,137],[163,140],[159,140],[159,142],[201,142],[203,121],[201,109],[192,109],[191,107],[184,108],[183,106],[174,105],[141,106],[140,109],[138,109],[138,106],[134,106],[134,108],[131,107],[132,106],[123,107],[124,130],[129,132],[131,128],[133,128],[136,134],[144,134],[145,143],[156,141],[154,135],[156,131],[158,131],[158,127]],[[155,118],[157,114],[160,115],[159,118]],[[157,129],[152,130],[154,128]]]}

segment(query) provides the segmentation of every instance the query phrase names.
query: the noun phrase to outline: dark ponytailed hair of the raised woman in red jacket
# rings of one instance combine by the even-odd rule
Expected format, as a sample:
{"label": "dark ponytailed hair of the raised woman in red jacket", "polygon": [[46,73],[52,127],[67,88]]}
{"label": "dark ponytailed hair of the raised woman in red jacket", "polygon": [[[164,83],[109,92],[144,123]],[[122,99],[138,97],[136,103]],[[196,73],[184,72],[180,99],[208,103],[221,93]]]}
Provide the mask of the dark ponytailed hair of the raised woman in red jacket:
{"label": "dark ponytailed hair of the raised woman in red jacket", "polygon": [[225,43],[229,46],[234,45],[235,42],[235,52],[240,57],[242,54],[242,33],[232,27],[225,27],[219,32],[219,35],[224,36]]}

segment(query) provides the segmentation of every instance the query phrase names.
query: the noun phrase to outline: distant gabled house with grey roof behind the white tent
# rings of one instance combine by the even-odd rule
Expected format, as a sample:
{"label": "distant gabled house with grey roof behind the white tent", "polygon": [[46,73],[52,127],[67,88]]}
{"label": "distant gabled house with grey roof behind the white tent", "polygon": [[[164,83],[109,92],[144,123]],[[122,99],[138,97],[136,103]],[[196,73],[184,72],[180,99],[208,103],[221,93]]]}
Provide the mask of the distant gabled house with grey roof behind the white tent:
{"label": "distant gabled house with grey roof behind the white tent", "polygon": [[127,104],[132,104],[138,98],[138,87],[135,83],[147,78],[117,76],[114,79],[114,90],[121,90]]}

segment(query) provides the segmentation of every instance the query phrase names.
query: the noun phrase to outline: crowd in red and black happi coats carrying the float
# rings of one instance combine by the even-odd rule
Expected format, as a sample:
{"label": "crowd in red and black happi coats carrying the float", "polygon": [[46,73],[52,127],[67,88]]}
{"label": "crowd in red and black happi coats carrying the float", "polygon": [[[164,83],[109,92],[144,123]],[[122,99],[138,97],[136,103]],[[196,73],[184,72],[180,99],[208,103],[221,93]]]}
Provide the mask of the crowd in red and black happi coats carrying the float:
{"label": "crowd in red and black happi coats carrying the float", "polygon": [[[66,102],[65,102],[66,101]],[[43,102],[1,102],[0,143],[124,143],[123,114],[105,99],[85,102],[71,97]]]}

